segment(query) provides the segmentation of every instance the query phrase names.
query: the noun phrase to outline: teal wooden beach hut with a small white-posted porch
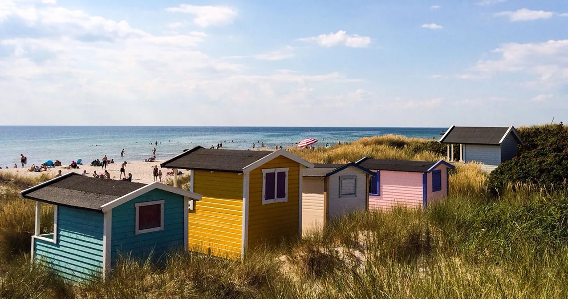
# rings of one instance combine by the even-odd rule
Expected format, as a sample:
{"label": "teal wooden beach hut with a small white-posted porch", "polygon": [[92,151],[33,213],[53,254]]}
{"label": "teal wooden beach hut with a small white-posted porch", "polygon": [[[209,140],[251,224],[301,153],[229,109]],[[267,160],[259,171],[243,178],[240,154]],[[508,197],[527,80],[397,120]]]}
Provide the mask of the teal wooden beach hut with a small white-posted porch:
{"label": "teal wooden beach hut with a small white-posted porch", "polygon": [[[66,279],[105,276],[119,255],[160,258],[187,250],[189,202],[201,196],[154,182],[67,173],[21,192],[36,201],[31,259]],[[54,207],[53,233],[40,235],[41,207]]]}

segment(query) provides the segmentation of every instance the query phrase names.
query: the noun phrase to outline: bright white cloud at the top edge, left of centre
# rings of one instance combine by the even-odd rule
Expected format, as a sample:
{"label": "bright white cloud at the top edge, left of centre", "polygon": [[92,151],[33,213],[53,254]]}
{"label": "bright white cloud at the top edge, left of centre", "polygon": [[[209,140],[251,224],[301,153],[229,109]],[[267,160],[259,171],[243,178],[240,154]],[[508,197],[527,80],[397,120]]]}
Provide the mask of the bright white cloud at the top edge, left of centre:
{"label": "bright white cloud at the top edge, left of centre", "polygon": [[180,4],[178,7],[168,7],[166,11],[175,13],[185,13],[194,16],[193,22],[197,26],[224,26],[231,24],[236,16],[237,10],[229,6],[196,6]]}

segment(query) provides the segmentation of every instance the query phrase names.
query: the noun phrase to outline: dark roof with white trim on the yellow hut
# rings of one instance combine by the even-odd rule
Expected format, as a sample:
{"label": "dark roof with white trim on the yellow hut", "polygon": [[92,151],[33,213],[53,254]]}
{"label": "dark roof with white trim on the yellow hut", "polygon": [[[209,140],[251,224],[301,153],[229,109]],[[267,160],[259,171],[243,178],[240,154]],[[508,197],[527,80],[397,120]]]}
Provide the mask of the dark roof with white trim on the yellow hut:
{"label": "dark roof with white trim on the yellow hut", "polygon": [[197,169],[204,171],[223,171],[248,173],[275,157],[285,156],[308,168],[314,166],[302,158],[285,150],[278,151],[248,151],[248,150],[216,150],[200,146],[160,164],[163,168]]}

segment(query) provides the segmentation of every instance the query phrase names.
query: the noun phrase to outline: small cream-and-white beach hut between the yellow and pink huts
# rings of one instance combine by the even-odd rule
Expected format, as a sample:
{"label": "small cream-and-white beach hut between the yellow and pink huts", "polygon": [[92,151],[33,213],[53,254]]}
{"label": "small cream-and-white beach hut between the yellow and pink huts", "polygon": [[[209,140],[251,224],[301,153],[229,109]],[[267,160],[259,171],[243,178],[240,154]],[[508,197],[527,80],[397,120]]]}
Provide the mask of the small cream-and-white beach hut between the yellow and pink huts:
{"label": "small cream-and-white beach hut between the yellow and pink huts", "polygon": [[314,164],[303,173],[302,230],[318,229],[333,218],[366,210],[369,169],[355,163]]}

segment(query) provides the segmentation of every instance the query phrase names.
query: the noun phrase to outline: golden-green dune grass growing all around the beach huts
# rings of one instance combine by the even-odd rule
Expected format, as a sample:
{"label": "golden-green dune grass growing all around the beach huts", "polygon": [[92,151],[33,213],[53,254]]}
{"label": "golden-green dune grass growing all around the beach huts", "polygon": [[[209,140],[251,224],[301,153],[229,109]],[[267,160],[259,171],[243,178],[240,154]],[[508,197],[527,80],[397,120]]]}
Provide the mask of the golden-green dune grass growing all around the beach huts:
{"label": "golden-green dune grass growing all around the beach huts", "polygon": [[[534,141],[542,137],[536,130],[550,128],[558,129],[522,128],[525,145],[520,156],[532,147],[540,151],[547,141]],[[420,160],[445,156],[445,146],[439,143],[399,136],[292,151],[316,163],[355,161],[362,156]],[[558,151],[544,156],[553,153]],[[172,252],[165,264],[124,258],[107,281],[79,285],[28,264],[29,243],[8,240],[16,245],[3,246],[5,232],[14,240],[26,235],[29,242],[34,205],[16,192],[0,190],[0,213],[6,213],[0,215],[0,297],[568,297],[565,185],[503,178],[500,192],[490,196],[488,186],[494,179],[477,164],[458,164],[450,176],[450,198],[427,210],[349,214],[302,242],[259,248],[244,261],[190,252]],[[189,182],[188,176],[178,180],[179,186]]]}

